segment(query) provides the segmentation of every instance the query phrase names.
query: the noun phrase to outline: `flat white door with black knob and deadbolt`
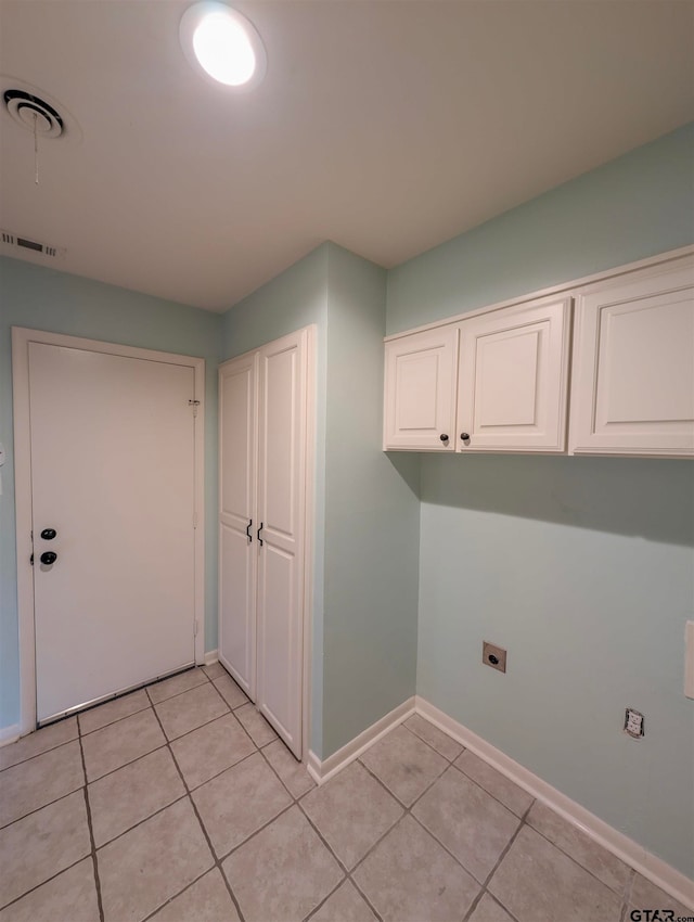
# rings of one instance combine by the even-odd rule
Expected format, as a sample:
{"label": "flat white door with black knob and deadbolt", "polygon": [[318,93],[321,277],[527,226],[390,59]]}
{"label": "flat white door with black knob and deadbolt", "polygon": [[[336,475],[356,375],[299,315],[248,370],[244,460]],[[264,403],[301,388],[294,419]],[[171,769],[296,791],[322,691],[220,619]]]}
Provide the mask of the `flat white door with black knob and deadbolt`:
{"label": "flat white door with black knob and deadbolt", "polygon": [[195,393],[165,361],[31,342],[28,363],[40,722],[194,662]]}

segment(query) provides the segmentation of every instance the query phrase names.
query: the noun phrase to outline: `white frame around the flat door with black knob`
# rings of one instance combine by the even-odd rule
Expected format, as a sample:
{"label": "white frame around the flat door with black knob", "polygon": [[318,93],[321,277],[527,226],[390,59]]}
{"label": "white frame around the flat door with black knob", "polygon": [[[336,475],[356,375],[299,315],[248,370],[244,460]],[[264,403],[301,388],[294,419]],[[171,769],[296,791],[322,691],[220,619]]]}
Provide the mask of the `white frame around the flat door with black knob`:
{"label": "white frame around the flat door with black knob", "polygon": [[17,547],[17,609],[20,627],[20,734],[36,729],[36,635],[34,624],[34,574],[29,563],[31,545],[31,428],[29,422],[29,343],[44,343],[73,349],[88,349],[112,356],[165,361],[185,366],[194,372],[197,414],[194,427],[194,619],[195,662],[205,657],[205,359],[140,349],[117,343],[102,343],[12,328],[12,386],[14,413],[14,471]]}

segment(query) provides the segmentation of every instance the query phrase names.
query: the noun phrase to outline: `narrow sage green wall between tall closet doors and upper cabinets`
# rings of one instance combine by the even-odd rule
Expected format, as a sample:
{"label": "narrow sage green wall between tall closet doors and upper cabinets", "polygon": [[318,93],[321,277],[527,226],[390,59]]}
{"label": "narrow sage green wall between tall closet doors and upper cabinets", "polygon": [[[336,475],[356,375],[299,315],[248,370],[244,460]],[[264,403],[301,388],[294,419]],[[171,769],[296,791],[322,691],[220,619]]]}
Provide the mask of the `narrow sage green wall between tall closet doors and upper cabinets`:
{"label": "narrow sage green wall between tall closet doors and upper cabinets", "polygon": [[419,458],[381,450],[385,286],[329,244],[323,758],[415,688]]}

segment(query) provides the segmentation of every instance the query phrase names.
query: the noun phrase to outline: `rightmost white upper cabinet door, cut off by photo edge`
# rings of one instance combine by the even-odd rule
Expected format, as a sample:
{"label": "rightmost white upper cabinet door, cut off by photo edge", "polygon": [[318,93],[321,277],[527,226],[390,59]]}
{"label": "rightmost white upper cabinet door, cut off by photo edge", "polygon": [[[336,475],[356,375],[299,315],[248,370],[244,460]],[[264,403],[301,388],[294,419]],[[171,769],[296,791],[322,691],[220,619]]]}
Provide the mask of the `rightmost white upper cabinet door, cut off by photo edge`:
{"label": "rightmost white upper cabinet door, cut off by photo edge", "polygon": [[579,292],[574,452],[694,453],[694,259]]}

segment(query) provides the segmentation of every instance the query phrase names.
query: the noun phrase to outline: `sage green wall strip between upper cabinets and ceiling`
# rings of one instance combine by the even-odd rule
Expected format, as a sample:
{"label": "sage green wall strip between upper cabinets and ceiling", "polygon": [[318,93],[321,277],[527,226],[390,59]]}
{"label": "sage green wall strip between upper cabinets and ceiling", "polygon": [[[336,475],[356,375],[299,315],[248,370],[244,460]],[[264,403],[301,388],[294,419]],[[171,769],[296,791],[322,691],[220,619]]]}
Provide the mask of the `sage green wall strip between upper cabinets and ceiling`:
{"label": "sage green wall strip between upper cabinets and ceiling", "polygon": [[691,243],[694,123],[388,272],[388,333]]}

